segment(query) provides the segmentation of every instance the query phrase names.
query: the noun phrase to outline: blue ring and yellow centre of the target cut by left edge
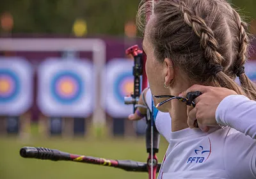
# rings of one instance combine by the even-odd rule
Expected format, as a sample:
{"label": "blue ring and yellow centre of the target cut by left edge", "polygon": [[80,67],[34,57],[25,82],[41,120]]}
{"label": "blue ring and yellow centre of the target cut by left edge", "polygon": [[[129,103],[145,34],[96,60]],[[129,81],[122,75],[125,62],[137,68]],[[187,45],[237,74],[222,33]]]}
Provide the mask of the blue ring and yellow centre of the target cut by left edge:
{"label": "blue ring and yellow centre of the target cut by left edge", "polygon": [[11,102],[19,95],[20,80],[15,72],[0,69],[0,103]]}

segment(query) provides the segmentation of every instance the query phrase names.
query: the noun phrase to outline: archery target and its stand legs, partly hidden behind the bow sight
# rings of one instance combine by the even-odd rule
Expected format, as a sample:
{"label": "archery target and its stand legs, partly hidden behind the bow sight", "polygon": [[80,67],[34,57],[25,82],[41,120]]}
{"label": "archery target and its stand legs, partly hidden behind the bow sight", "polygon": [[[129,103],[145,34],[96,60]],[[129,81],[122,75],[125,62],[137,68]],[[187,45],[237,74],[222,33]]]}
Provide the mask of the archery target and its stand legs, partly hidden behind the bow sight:
{"label": "archery target and its stand legs, partly hidden behind the bow sight", "polygon": [[[127,121],[132,114],[132,105],[124,104],[124,97],[131,95],[134,89],[132,66],[134,62],[126,58],[116,58],[109,61],[102,75],[102,97],[106,113],[112,118],[111,133],[113,136],[131,136],[131,129],[136,136],[145,134],[145,121],[135,121],[133,125]],[[141,129],[142,128],[142,129]],[[134,134],[133,134],[134,135]]]}

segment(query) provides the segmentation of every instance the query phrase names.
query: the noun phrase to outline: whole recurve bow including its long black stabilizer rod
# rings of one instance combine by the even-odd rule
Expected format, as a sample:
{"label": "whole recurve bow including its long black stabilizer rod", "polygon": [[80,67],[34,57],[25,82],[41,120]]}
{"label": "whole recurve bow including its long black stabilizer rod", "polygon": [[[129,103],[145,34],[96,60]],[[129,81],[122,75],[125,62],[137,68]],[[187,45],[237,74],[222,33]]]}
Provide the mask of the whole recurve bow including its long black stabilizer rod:
{"label": "whole recurve bow including its long black stabilizer rod", "polygon": [[[146,2],[148,0],[145,0]],[[157,1],[157,0],[155,0]],[[146,10],[146,19],[148,20],[150,14],[153,13],[154,0],[150,8]],[[134,45],[127,49],[126,54],[132,54],[134,57],[134,66],[132,69],[132,74],[134,75],[134,93],[131,97],[125,97],[125,104],[133,104],[133,111],[136,111],[138,107],[138,100],[141,95],[141,90],[147,88],[147,75],[145,72],[145,62],[147,57],[144,55],[143,51],[138,48],[138,45]],[[141,81],[142,77],[142,81]],[[147,104],[145,104],[147,105]],[[44,160],[69,160],[74,162],[84,162],[90,164],[99,164],[102,166],[116,167],[120,169],[125,169],[126,171],[138,171],[138,172],[148,172],[149,179],[156,179],[156,173],[159,171],[161,164],[158,164],[156,153],[159,150],[159,133],[156,130],[154,124],[154,104],[152,101],[152,111],[150,111],[147,106],[147,128],[145,131],[146,137],[146,148],[148,153],[147,163],[136,162],[132,160],[112,160],[103,159],[97,157],[88,157],[84,155],[74,155],[71,153],[61,152],[59,150],[52,150],[49,148],[34,148],[34,147],[24,147],[20,149],[20,156],[24,158],[33,159],[44,159]]]}

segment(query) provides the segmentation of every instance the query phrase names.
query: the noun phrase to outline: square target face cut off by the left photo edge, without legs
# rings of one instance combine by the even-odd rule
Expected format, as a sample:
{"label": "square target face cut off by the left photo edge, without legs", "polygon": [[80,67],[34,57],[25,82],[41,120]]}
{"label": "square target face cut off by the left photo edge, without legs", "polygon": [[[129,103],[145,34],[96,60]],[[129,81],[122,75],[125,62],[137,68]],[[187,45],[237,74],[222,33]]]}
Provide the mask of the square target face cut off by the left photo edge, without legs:
{"label": "square target face cut off by the left photo edge, without legs", "polygon": [[33,102],[33,69],[23,58],[0,58],[0,114],[19,116]]}

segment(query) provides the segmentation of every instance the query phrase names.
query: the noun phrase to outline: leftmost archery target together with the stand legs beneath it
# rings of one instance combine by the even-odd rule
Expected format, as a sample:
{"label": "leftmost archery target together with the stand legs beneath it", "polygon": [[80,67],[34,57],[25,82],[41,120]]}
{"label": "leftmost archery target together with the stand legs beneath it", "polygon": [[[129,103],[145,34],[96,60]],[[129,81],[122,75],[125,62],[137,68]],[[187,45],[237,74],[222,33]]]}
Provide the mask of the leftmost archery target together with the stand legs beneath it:
{"label": "leftmost archery target together with the stand legs beneath it", "polygon": [[33,70],[26,59],[0,57],[0,134],[26,133],[32,88]]}

